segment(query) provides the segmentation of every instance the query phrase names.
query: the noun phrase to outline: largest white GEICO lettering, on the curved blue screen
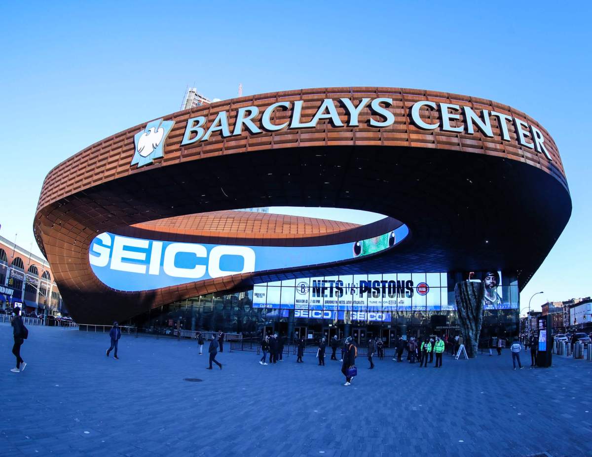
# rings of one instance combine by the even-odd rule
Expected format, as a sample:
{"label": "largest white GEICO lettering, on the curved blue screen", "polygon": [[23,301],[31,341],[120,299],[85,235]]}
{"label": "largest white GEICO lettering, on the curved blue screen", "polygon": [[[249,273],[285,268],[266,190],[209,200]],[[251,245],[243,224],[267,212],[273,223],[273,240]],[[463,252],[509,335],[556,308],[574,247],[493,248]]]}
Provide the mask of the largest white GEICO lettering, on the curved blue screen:
{"label": "largest white GEICO lettering, on the curved blue screen", "polygon": [[[162,266],[166,275],[175,278],[198,279],[207,273],[211,278],[237,275],[255,271],[255,252],[247,246],[214,246],[208,255],[208,250],[202,244],[169,243],[163,249],[162,241],[150,241],[128,238],[108,233],[101,233],[96,237],[101,244],[94,243],[91,247],[89,260],[91,265],[109,266],[112,270],[139,273],[141,275],[160,275]],[[175,264],[177,255],[189,255],[194,262],[191,266]],[[220,266],[223,256],[240,256],[243,259],[241,271],[224,271]],[[207,265],[198,265],[200,259],[207,259]],[[162,262],[161,262],[162,260]]]}

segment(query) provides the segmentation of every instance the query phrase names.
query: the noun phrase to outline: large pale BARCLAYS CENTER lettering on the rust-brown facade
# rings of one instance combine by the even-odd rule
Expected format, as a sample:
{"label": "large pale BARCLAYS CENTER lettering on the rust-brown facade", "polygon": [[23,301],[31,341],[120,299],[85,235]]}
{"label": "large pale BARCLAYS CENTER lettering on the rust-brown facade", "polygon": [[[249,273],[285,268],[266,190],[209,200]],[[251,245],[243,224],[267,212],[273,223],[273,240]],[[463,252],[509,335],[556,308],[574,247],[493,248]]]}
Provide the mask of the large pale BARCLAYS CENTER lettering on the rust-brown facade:
{"label": "large pale BARCLAYS CENTER lettering on the rust-brown facade", "polygon": [[[223,138],[240,136],[243,134],[243,128],[246,128],[252,134],[262,133],[264,130],[273,132],[292,128],[314,128],[321,119],[330,120],[334,127],[358,127],[359,115],[363,108],[367,106],[369,106],[372,113],[366,123],[369,127],[382,128],[395,123],[395,115],[388,109],[393,105],[392,98],[362,98],[357,104],[354,104],[349,98],[339,98],[338,100],[326,98],[310,121],[304,121],[302,118],[303,104],[304,101],[302,100],[276,102],[269,105],[261,115],[259,115],[259,108],[255,106],[239,108],[236,114],[220,111],[210,125],[206,124],[207,117],[205,116],[189,118],[181,146],[197,141],[207,141],[214,132],[220,132],[220,136]],[[343,110],[348,115],[345,124],[339,117],[337,107],[343,107]],[[275,119],[274,112],[276,110],[292,110],[292,116],[289,120],[276,124],[272,122],[272,118]],[[432,121],[431,116],[422,118],[420,116],[422,110],[438,111],[439,121]],[[438,129],[472,135],[475,133],[476,127],[484,136],[489,138],[495,136],[491,126],[491,119],[493,118],[497,121],[501,140],[514,141],[508,130],[508,125],[513,124],[516,132],[515,141],[518,144],[544,154],[548,160],[553,160],[544,144],[543,134],[538,128],[517,117],[501,112],[483,109],[481,113],[478,113],[472,107],[465,105],[420,100],[411,105],[408,117],[416,127],[422,130]],[[234,118],[232,131],[230,130],[230,118]],[[456,125],[457,123],[461,125]]]}

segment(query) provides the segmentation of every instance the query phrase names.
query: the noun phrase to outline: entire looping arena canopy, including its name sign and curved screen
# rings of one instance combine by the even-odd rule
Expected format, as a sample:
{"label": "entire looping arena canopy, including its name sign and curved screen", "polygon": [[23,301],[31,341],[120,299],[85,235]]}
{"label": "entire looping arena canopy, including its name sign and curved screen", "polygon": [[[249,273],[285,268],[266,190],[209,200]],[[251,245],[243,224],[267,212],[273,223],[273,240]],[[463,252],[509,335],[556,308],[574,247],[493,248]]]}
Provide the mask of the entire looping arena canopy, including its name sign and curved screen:
{"label": "entire looping arena canopy, including its name sign and curved screen", "polygon": [[[262,206],[385,217],[229,211]],[[92,144],[47,175],[34,232],[72,316],[107,323],[310,276],[490,270],[522,289],[570,214],[556,144],[525,113],[340,87],[215,102]]]}

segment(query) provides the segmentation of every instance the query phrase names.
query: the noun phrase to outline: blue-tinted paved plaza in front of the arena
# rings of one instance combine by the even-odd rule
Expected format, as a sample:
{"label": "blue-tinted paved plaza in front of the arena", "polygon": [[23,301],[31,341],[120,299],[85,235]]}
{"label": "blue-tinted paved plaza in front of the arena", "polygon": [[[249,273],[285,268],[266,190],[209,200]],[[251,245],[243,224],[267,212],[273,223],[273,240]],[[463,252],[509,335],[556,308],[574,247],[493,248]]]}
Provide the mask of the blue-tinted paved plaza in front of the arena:
{"label": "blue-tinted paved plaza in front of the arena", "polygon": [[124,335],[117,361],[107,334],[29,330],[28,366],[14,374],[12,329],[0,324],[1,456],[592,455],[590,362],[513,371],[505,350],[445,356],[442,369],[388,358],[371,371],[361,357],[344,387],[329,356],[324,367],[311,354],[261,366],[225,351],[209,371],[194,341]]}

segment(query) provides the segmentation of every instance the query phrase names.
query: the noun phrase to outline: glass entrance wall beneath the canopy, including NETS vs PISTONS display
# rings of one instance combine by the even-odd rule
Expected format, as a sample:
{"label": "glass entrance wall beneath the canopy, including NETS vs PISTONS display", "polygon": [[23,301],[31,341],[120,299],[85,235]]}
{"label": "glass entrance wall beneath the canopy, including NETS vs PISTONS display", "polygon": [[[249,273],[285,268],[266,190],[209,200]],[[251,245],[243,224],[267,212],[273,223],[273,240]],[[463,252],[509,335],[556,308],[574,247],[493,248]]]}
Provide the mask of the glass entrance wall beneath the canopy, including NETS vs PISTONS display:
{"label": "glass entrance wall beneath the canopy, including NETS vs PISTONS display", "polygon": [[[380,305],[377,302],[376,283],[374,291],[372,288],[364,291],[363,294],[369,297],[356,305],[356,300],[353,299],[349,301],[343,297],[328,297],[331,295],[328,281],[333,281],[333,288],[340,287],[336,282],[339,280],[337,277],[323,278],[325,286],[320,282],[315,282],[313,286],[313,280],[317,281],[318,278],[305,278],[255,285],[253,289],[233,294],[206,294],[188,298],[140,314],[125,324],[137,326],[138,332],[167,336],[178,336],[179,330],[222,330],[225,333],[242,334],[244,338],[258,338],[263,333],[278,332],[288,340],[303,335],[311,340],[318,340],[322,336],[352,336],[359,345],[365,345],[369,337],[381,337],[387,345],[394,345],[399,336],[408,339],[412,336],[458,334],[453,285],[456,275],[421,273],[414,278],[415,274],[409,273],[408,279],[406,274],[401,278],[398,278],[400,275],[395,275],[396,281],[416,279],[413,281],[412,296],[407,297],[411,295],[408,288],[402,290],[405,300],[395,305],[388,299],[388,282],[384,284],[387,298],[383,297]],[[360,276],[358,279],[369,281],[371,285],[373,281],[388,281],[393,277]],[[378,276],[381,278],[378,279]],[[359,282],[356,283],[355,279],[351,278],[351,284],[357,284],[359,287]],[[301,295],[306,295],[306,302],[298,302],[299,283]],[[429,285],[429,292],[423,283]],[[363,285],[364,283],[362,287]],[[326,289],[319,289],[322,287]],[[314,288],[317,289],[313,290]],[[483,311],[481,346],[487,346],[487,341],[492,336],[509,339],[517,335],[519,330],[517,281],[509,275],[504,275],[498,290],[504,297],[499,306]],[[432,291],[435,291],[433,297],[430,294]],[[373,292],[375,297],[372,297]],[[397,295],[396,283],[391,292]],[[356,296],[359,293],[358,289]],[[304,307],[307,311],[306,316],[301,312]],[[384,316],[377,319],[377,314],[388,314],[388,319]]]}

